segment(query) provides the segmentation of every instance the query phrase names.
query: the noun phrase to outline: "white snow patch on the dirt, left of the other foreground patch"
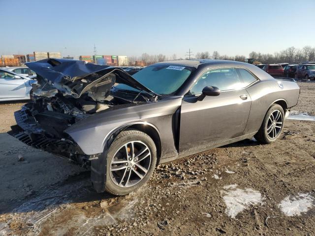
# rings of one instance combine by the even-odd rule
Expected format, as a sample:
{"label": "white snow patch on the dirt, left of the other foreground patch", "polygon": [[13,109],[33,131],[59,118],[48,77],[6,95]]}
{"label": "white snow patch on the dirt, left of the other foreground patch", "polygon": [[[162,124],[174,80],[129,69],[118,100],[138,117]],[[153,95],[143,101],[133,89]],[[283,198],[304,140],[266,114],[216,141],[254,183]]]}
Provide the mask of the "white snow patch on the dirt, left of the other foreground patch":
{"label": "white snow patch on the dirt, left of the other foreground patch", "polygon": [[231,218],[250,206],[262,204],[261,193],[251,188],[241,189],[237,184],[231,184],[223,189],[220,192],[226,205],[225,213]]}

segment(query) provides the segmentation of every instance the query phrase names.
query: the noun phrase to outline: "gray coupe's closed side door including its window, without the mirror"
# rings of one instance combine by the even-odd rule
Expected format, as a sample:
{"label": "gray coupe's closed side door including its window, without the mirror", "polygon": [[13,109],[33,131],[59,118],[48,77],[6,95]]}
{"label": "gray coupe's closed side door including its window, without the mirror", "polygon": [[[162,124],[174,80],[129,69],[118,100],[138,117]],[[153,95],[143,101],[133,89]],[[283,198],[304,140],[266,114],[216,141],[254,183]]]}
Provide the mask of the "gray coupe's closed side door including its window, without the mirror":
{"label": "gray coupe's closed side door including its window, without the mirror", "polygon": [[[251,81],[243,80],[241,76]],[[246,87],[257,79],[244,68],[222,67],[206,70],[183,98],[180,118],[179,152],[205,148],[244,135],[251,97]],[[221,89],[219,96],[205,96],[206,86]]]}

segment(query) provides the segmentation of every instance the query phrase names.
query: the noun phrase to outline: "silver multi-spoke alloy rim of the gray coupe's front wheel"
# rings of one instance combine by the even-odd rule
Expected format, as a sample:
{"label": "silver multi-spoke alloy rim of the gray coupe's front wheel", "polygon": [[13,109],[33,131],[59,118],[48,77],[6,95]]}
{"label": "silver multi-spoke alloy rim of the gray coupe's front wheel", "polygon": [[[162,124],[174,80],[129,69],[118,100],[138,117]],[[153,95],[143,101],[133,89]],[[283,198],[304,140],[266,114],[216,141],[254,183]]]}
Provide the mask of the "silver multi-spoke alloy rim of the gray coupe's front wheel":
{"label": "silver multi-spoke alloy rim of the gray coupe's front wheel", "polygon": [[114,154],[109,174],[120,187],[131,187],[140,182],[149,171],[151,151],[141,141],[131,141],[120,147]]}

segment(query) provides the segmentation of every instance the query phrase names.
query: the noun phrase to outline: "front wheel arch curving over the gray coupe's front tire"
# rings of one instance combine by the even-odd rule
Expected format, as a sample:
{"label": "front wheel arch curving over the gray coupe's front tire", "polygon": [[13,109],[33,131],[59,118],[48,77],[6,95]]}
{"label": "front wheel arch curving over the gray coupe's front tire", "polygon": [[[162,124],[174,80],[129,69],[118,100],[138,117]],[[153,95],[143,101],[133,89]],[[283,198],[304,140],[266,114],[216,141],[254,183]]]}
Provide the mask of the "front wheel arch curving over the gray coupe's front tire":
{"label": "front wheel arch curving over the gray coupe's front tire", "polygon": [[160,140],[160,133],[158,128],[146,121],[139,121],[139,122],[132,122],[124,124],[116,129],[112,130],[105,138],[103,147],[109,148],[112,142],[115,140],[117,135],[126,129],[136,129],[139,130],[147,135],[153,140],[157,148],[157,165],[159,163],[161,157],[161,140]]}

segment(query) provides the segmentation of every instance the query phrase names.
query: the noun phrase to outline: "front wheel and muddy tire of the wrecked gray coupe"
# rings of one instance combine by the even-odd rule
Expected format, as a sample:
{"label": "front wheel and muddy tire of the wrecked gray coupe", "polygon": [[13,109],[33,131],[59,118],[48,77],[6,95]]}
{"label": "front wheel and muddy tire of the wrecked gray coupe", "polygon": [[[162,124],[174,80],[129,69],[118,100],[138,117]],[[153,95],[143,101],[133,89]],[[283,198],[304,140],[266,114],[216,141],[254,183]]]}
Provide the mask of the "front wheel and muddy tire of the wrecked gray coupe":
{"label": "front wheel and muddy tire of the wrecked gray coupe", "polygon": [[[140,154],[143,150],[145,151]],[[152,176],[157,164],[155,143],[150,136],[139,130],[121,132],[105,153],[107,153],[105,190],[114,195],[123,196],[143,186]],[[131,153],[133,157],[130,156]],[[137,155],[140,160],[136,160]],[[120,168],[123,169],[119,170]]]}

